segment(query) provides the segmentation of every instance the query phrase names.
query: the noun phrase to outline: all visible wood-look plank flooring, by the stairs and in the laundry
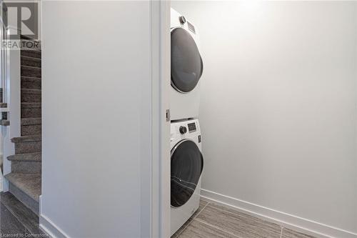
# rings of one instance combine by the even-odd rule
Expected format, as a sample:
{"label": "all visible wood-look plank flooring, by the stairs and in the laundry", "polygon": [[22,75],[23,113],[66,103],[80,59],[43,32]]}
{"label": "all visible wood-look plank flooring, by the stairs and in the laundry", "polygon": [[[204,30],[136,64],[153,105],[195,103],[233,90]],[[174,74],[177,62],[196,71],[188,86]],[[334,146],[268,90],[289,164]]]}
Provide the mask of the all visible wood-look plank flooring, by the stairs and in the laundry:
{"label": "all visible wood-look plank flooring, by the stairs and in the laundry", "polygon": [[[47,237],[39,229],[39,217],[9,192],[0,194],[0,234]],[[200,207],[171,238],[314,238],[278,224],[201,199]]]}

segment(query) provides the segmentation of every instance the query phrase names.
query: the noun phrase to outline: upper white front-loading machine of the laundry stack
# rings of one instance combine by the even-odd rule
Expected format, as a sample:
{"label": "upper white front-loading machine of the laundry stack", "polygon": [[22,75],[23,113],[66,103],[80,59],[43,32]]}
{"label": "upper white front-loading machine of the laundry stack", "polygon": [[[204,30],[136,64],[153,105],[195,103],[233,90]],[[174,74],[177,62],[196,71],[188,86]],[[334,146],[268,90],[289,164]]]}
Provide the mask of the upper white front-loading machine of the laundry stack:
{"label": "upper white front-loading machine of the laundry stack", "polygon": [[171,9],[171,120],[198,117],[203,62],[191,21]]}

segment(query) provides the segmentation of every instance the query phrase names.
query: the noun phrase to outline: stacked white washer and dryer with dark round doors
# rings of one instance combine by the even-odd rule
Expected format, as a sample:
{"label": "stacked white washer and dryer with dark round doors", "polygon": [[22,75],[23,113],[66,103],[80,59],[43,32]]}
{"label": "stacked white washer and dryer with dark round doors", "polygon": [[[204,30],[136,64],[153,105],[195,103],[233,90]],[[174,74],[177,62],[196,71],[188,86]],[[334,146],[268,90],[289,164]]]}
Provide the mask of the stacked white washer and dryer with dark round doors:
{"label": "stacked white washer and dryer with dark round doors", "polygon": [[171,235],[199,207],[203,157],[198,123],[203,62],[196,27],[171,9]]}

